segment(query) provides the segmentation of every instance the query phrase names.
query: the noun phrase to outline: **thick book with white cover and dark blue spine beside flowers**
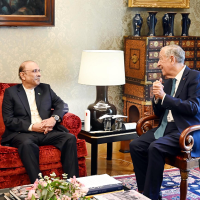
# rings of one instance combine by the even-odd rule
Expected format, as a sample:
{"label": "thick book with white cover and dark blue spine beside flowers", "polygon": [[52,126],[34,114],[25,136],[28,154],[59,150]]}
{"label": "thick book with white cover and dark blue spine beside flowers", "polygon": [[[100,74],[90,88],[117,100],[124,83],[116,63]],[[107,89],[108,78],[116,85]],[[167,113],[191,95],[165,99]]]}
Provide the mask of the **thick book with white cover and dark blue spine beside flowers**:
{"label": "thick book with white cover and dark blue spine beside flowers", "polygon": [[122,182],[116,180],[108,174],[80,177],[76,180],[84,184],[85,187],[89,189],[87,196],[123,189]]}

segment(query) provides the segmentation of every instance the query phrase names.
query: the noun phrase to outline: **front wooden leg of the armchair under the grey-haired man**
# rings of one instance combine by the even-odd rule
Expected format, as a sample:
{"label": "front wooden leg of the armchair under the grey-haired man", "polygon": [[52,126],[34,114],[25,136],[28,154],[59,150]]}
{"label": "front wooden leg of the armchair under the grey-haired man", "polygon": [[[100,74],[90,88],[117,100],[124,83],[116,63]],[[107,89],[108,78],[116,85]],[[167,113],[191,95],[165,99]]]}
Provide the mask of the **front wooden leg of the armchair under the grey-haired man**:
{"label": "front wooden leg of the armchair under the grey-haired man", "polygon": [[180,200],[186,200],[188,188],[188,176],[190,170],[180,170],[181,184],[180,184]]}

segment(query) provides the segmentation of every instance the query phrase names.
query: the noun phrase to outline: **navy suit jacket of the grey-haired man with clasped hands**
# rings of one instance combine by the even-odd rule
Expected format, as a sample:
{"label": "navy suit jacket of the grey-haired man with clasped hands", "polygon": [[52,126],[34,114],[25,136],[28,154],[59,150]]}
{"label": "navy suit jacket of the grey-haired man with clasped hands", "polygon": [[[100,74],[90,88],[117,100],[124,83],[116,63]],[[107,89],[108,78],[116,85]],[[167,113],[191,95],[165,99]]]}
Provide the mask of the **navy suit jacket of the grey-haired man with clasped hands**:
{"label": "navy suit jacket of the grey-haired man with clasped hands", "polygon": [[[200,124],[200,72],[186,66],[179,83],[175,97],[170,96],[172,79],[165,80],[164,91],[166,96],[163,104],[153,101],[154,113],[160,117],[160,123],[166,109],[172,111],[174,122],[181,133],[189,126]],[[195,143],[192,156],[200,156],[200,131],[193,134]]]}

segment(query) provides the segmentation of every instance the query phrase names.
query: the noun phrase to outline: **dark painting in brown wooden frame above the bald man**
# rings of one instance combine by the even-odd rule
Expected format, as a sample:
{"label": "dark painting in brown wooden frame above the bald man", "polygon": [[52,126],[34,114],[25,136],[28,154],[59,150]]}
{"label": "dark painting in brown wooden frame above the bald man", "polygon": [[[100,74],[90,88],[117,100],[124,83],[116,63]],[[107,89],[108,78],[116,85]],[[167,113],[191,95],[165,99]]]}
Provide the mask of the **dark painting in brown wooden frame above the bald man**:
{"label": "dark painting in brown wooden frame above the bald man", "polygon": [[54,26],[55,0],[0,0],[0,26]]}

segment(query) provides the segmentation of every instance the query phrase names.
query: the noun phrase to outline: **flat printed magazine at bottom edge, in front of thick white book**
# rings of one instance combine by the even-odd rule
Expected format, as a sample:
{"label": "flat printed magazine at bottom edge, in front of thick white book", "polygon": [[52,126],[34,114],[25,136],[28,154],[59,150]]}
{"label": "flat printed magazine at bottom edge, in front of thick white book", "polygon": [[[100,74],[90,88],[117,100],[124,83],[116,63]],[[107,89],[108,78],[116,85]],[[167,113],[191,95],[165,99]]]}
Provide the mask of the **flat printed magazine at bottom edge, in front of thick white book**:
{"label": "flat printed magazine at bottom edge, in front of thick white book", "polygon": [[112,192],[107,194],[99,194],[93,196],[96,200],[150,200],[148,197],[140,194],[135,190],[125,190]]}

